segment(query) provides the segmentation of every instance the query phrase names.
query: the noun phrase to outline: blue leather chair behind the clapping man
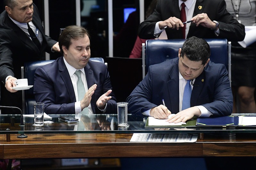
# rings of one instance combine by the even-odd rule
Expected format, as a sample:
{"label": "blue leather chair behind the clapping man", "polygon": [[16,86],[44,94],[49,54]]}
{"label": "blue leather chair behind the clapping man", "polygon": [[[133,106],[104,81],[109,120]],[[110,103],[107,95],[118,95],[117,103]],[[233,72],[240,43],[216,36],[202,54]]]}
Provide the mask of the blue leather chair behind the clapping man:
{"label": "blue leather chair behind the clapping man", "polygon": [[[91,61],[104,63],[103,58],[90,58]],[[26,62],[24,66],[21,66],[21,78],[28,79],[28,85],[34,85],[35,71],[38,67],[48,63],[52,63],[54,60],[44,60],[35,62]],[[107,63],[105,63],[107,65]],[[24,114],[34,114],[34,103],[36,102],[34,97],[34,88],[29,90],[22,90],[22,112]]]}

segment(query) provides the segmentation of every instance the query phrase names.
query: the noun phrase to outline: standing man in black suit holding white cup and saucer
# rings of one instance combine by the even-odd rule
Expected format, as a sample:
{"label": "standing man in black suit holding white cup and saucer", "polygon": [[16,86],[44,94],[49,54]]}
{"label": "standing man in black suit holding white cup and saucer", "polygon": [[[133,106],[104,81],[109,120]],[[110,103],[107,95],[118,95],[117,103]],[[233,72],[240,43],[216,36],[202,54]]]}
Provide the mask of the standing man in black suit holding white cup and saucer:
{"label": "standing man in black suit holding white cup and saucer", "polygon": [[44,59],[45,51],[60,49],[57,41],[44,34],[32,0],[4,0],[4,4],[5,11],[0,14],[1,104],[21,108],[21,91],[12,89],[14,81],[21,78],[21,66]]}

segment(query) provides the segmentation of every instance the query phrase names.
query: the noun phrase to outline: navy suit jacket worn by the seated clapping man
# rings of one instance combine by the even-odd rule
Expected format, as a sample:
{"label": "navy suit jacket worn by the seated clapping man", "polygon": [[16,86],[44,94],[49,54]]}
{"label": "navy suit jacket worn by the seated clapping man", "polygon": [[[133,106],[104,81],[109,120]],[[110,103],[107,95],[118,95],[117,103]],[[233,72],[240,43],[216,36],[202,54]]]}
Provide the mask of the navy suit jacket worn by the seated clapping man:
{"label": "navy suit jacket worn by the seated clapping man", "polygon": [[[102,113],[96,106],[96,101],[103,93],[112,89],[107,67],[103,63],[89,61],[84,69],[88,88],[97,84],[91,99],[93,113]],[[47,114],[75,114],[75,92],[63,57],[37,68],[34,95],[37,102],[45,104]],[[108,101],[105,113],[117,113],[115,95],[111,92],[110,96],[112,98]]]}

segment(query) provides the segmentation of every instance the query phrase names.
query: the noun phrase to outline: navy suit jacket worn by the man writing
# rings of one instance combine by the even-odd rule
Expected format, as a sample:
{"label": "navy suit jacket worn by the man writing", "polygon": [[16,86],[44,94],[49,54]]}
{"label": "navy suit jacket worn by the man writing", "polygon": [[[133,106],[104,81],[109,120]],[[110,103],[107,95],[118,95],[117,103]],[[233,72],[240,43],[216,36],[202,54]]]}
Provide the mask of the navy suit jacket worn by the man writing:
{"label": "navy suit jacket worn by the man writing", "polygon": [[[162,104],[171,113],[179,112],[179,74],[178,57],[149,66],[146,77],[136,86],[127,98],[128,112],[142,112]],[[227,69],[223,64],[211,61],[195,79],[190,106],[202,105],[213,116],[231,115],[233,95],[228,80]]]}

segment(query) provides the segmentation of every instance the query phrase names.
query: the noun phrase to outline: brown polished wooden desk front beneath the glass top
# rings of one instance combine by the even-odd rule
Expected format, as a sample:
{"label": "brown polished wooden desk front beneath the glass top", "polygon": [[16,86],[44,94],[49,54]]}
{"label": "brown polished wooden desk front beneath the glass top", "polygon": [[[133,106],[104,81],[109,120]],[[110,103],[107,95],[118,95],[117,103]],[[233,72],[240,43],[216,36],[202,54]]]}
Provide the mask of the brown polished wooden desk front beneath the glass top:
{"label": "brown polished wooden desk front beneath the glass top", "polygon": [[[256,156],[256,134],[204,134],[195,143],[134,143],[132,134],[0,135],[0,159]],[[168,151],[168,152],[166,152]],[[164,154],[163,154],[164,153]]]}

